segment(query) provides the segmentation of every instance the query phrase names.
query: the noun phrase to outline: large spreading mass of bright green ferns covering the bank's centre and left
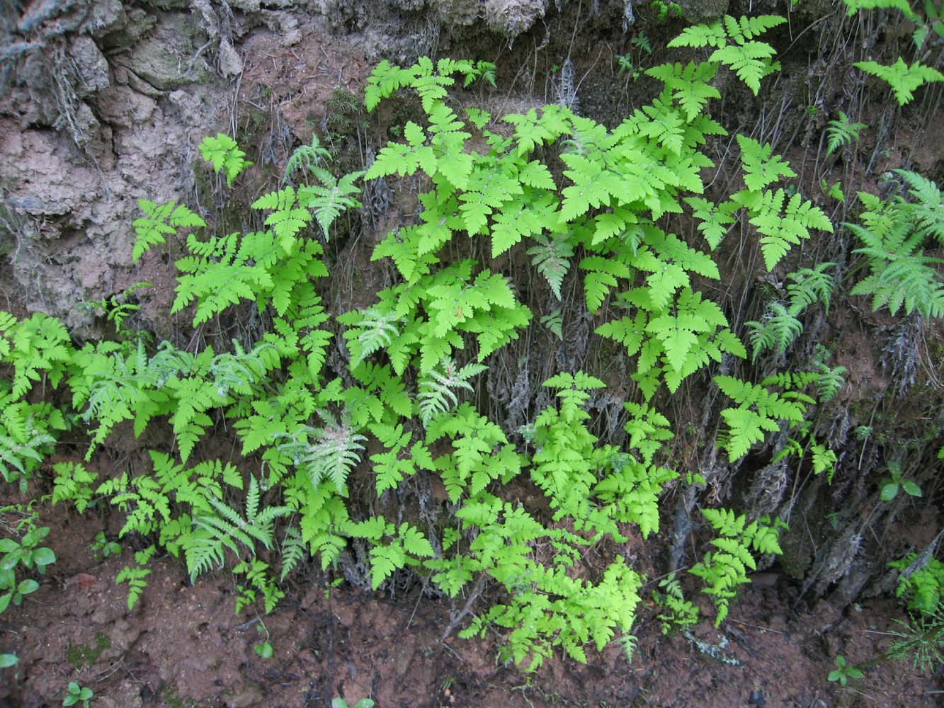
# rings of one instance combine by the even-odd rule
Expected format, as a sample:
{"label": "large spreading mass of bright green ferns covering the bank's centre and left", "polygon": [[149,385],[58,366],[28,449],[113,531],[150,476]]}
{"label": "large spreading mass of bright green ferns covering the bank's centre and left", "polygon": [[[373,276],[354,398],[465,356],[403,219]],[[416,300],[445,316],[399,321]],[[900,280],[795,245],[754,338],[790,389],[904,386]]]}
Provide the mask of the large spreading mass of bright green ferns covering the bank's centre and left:
{"label": "large spreading mass of bright green ferns covering the bank's centre and left", "polygon": [[[123,515],[120,535],[148,539],[117,579],[128,584],[129,604],[141,597],[147,564],[162,548],[182,559],[192,581],[228,566],[238,579],[237,611],[261,603],[269,612],[296,568],[310,558],[335,566],[353,539],[374,588],[408,570],[449,598],[477,597],[493,583],[497,602],[476,612],[463,634],[507,630],[504,659],[536,668],[554,648],[578,661],[591,643],[632,648],[644,578],[622,557],[600,568],[584,558],[603,542],[659,531],[660,497],[679,477],[666,466],[669,422],[652,404],[661,387],[674,393],[725,355],[747,356],[726,313],[699,290],[720,278],[716,261],[668,232],[664,217],[687,206],[711,249],[745,218],[761,236],[767,270],[811,230],[832,231],[822,211],[778,186],[795,177],[789,165],[770,145],[743,136],[744,189],[717,204],[703,196],[701,176],[713,166],[704,145],[725,134],[707,113],[720,97],[717,70],[729,66],[757,93],[775,62],[772,47],[756,38],[782,22],[725,17],[686,30],[673,46],[716,51],[649,70],[665,88],[613,129],[561,106],[498,119],[454,109],[448,92],[459,82],[494,81],[487,62],[381,62],[368,80],[367,110],[404,91],[416,95],[421,113],[366,173],[335,177],[312,138],[287,166],[284,186],[253,203],[259,227],[247,233],[213,233],[177,204],[141,204],[135,258],[178,229],[190,231],[173,312],[186,313],[201,332],[246,313],[261,324],[247,329],[255,335],[219,351],[150,347],[143,336],[76,349],[57,320],[0,315],[0,360],[11,379],[0,394],[0,471],[24,484],[59,430],[87,428],[86,464],[54,467],[53,498],[79,511],[107,501]],[[222,135],[205,141],[201,154],[228,184],[249,165]],[[289,184],[299,173],[309,183]],[[360,206],[361,180],[395,176],[417,177],[425,191],[415,217],[375,248],[374,260],[396,266],[394,281],[374,302],[333,318],[341,336],[326,366],[333,326],[317,291],[328,276],[321,243]],[[936,232],[934,213],[909,218]],[[480,412],[484,387],[476,377],[531,326],[520,278],[512,278],[513,267],[529,262],[540,276],[533,287],[548,301],[582,290],[587,310],[601,317],[596,334],[630,357],[640,396],[624,404],[624,446],[599,444],[588,409],[605,384],[582,371],[544,381],[552,402],[532,412],[523,445]],[[831,265],[790,274],[784,315],[797,320],[817,302],[829,307]],[[757,329],[775,317],[767,319]],[[541,321],[563,339],[563,310]],[[785,350],[796,333],[788,323],[771,330],[754,341],[755,356],[758,347]],[[814,403],[803,388],[825,397],[841,385],[841,372],[817,367],[760,384],[716,377],[734,400],[722,412],[731,459],[782,426],[802,436]],[[41,383],[66,384],[75,414],[27,398]],[[123,425],[136,435],[161,425],[173,435],[165,449],[149,451],[149,467],[99,480],[95,451]],[[203,458],[201,442],[224,429],[241,447],[239,467]],[[823,464],[828,451],[807,439],[814,465]],[[417,476],[441,484],[445,521],[427,523],[425,509],[396,522],[362,516],[349,498],[364,485],[390,498]],[[689,475],[687,483],[698,480]],[[541,498],[505,498],[513,481]],[[716,598],[721,621],[754,554],[779,552],[778,524],[749,524],[723,510],[705,517],[719,535],[693,572]],[[665,588],[665,602],[676,623],[693,620],[678,587]]]}

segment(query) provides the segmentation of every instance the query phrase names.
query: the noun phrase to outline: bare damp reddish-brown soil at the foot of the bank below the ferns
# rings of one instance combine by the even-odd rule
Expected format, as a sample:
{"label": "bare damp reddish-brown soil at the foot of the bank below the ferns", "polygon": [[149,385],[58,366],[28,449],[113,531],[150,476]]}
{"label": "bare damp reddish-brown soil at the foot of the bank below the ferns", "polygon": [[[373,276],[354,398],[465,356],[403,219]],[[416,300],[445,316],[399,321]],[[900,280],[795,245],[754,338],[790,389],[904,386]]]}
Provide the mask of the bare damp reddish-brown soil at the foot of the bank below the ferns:
{"label": "bare damp reddish-brown soil at the foot of the bank below the ferns", "polygon": [[[182,564],[164,558],[129,612],[126,585],[114,578],[133,563],[130,544],[96,561],[87,547],[102,518],[59,505],[42,523],[58,562],[39,591],[4,614],[0,649],[20,664],[4,671],[0,705],[60,705],[70,681],[92,688],[97,708],[329,706],[339,696],[352,706],[371,697],[379,708],[918,708],[944,697],[940,668],[920,674],[903,662],[872,666],[846,688],[829,683],[835,654],[850,663],[881,654],[901,613],[887,599],[847,613],[798,605],[798,590],[777,573],[758,577],[719,630],[707,622],[695,629],[695,639],[716,647],[714,657],[691,639],[663,636],[645,603],[632,663],[610,646],[589,651],[586,666],[555,656],[528,675],[496,661],[497,635],[441,643],[450,607],[423,596],[418,583],[386,595],[326,589],[312,569],[273,614],[235,615],[231,576],[191,585]],[[266,638],[275,653],[262,659],[254,647]]]}

